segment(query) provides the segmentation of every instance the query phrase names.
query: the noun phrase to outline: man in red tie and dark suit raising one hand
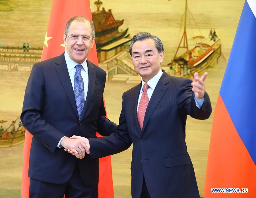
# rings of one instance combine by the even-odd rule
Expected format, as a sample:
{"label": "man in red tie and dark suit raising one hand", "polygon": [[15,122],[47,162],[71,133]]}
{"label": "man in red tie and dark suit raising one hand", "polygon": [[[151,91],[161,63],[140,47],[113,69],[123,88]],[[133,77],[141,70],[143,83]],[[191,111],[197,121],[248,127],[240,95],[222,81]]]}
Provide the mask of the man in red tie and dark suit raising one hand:
{"label": "man in red tie and dark suit raising one hand", "polygon": [[193,82],[169,76],[160,69],[162,42],[147,32],[133,36],[130,54],[142,82],[123,93],[116,133],[89,140],[71,138],[86,143],[91,159],[119,153],[132,143],[132,197],[199,197],[185,125],[187,115],[203,120],[211,114],[204,84],[207,73],[201,78],[196,73]]}

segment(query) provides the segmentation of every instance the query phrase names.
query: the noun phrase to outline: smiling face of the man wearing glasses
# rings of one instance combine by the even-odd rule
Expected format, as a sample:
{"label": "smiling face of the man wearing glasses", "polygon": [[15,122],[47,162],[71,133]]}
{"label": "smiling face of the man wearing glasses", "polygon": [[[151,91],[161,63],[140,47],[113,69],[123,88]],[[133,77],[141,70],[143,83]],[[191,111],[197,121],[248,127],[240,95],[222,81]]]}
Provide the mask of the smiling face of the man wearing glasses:
{"label": "smiling face of the man wearing glasses", "polygon": [[66,45],[66,50],[69,57],[77,62],[82,63],[88,57],[90,50],[93,47],[95,38],[90,39],[89,41],[83,41],[81,36],[92,37],[92,28],[88,21],[86,22],[79,22],[73,21],[68,29],[67,32],[68,36],[79,36],[77,41],[73,41],[71,38],[63,35],[63,40]]}

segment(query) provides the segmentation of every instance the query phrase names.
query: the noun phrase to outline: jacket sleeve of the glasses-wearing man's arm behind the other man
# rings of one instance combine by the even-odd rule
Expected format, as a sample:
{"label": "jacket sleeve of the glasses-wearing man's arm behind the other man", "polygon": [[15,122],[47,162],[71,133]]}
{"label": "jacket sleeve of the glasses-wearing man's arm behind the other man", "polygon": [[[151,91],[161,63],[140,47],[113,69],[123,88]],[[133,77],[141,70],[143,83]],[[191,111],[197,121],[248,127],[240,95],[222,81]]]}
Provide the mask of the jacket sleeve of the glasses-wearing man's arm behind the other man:
{"label": "jacket sleeve of the glasses-wearing man's arm behind the other man", "polygon": [[[102,94],[104,93],[104,88],[106,83],[106,72],[104,74],[105,74],[105,77],[102,85],[103,87]],[[100,104],[100,110],[99,110],[98,120],[97,120],[97,128],[98,128],[98,133],[102,136],[109,136],[110,134],[114,133],[117,128],[117,125],[114,122],[111,122],[108,118],[106,118],[106,109],[104,106],[103,98]]]}

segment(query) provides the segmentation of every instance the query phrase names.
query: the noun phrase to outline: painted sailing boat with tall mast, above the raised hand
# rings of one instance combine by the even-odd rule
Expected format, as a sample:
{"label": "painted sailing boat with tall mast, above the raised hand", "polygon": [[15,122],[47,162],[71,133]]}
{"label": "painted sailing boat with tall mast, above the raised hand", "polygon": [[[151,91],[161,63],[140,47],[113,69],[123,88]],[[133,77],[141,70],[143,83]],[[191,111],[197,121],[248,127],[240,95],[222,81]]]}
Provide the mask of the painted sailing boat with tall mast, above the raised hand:
{"label": "painted sailing boat with tall mast, above the raised hand", "polygon": [[[209,37],[196,43],[195,47],[189,50],[187,43],[186,18],[187,0],[185,3],[184,33],[174,55],[174,59],[168,66],[170,66],[171,75],[192,79],[195,72],[201,74],[207,68],[214,67],[217,64],[218,58],[221,55],[221,42],[217,37],[215,30],[214,32],[211,30]],[[186,52],[177,56],[180,48],[185,48]]]}

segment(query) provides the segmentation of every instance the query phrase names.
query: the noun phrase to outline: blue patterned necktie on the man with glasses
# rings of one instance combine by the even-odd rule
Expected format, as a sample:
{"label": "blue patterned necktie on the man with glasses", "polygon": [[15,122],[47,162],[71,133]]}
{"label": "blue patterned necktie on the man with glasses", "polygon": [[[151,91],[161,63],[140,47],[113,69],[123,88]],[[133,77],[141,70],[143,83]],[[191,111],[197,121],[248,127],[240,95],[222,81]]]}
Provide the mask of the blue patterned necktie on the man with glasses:
{"label": "blue patterned necktie on the man with glasses", "polygon": [[75,99],[77,104],[77,112],[79,120],[81,120],[81,114],[84,108],[84,81],[81,76],[82,65],[78,64],[76,66],[74,89],[75,89]]}

